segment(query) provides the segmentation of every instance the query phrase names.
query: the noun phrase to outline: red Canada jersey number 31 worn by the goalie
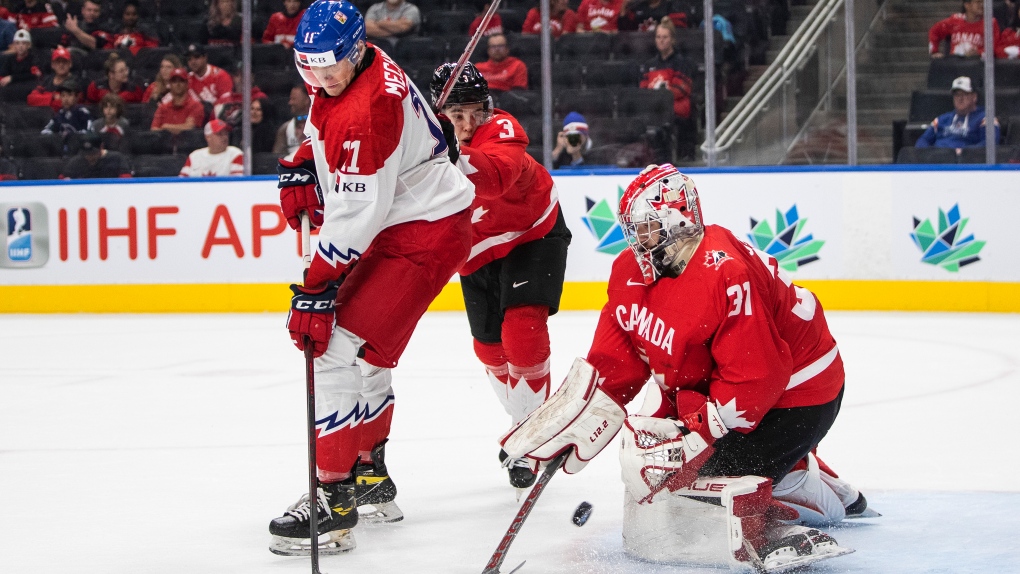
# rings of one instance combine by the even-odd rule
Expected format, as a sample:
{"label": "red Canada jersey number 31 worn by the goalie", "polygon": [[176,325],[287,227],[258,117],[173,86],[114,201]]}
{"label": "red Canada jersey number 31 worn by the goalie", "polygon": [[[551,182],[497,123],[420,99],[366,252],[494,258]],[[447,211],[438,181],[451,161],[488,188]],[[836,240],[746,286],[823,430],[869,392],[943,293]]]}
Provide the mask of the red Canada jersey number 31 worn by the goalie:
{"label": "red Canada jersey number 31 worn by the goalie", "polygon": [[676,278],[646,285],[629,250],[616,258],[588,360],[621,403],[651,375],[670,402],[681,389],[707,395],[741,432],[770,409],[832,401],[844,382],[815,296],[717,225]]}

